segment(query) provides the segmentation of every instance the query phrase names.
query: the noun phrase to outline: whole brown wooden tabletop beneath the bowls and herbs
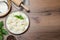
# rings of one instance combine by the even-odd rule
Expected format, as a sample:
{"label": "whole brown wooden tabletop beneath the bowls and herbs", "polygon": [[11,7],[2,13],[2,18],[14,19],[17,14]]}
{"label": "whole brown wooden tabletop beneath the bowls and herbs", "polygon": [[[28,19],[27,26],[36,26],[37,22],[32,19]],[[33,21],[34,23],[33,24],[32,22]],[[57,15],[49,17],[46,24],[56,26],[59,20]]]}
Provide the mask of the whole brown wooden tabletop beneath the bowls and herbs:
{"label": "whole brown wooden tabletop beneath the bowls and herbs", "polygon": [[[60,0],[30,0],[30,10],[30,28],[22,35],[14,35],[17,40],[60,40]],[[5,22],[6,17],[0,20]]]}

